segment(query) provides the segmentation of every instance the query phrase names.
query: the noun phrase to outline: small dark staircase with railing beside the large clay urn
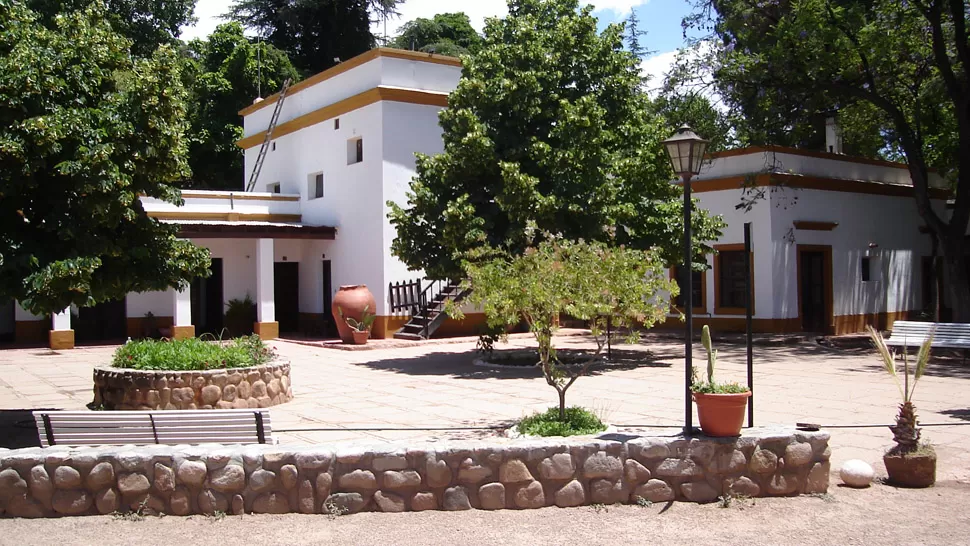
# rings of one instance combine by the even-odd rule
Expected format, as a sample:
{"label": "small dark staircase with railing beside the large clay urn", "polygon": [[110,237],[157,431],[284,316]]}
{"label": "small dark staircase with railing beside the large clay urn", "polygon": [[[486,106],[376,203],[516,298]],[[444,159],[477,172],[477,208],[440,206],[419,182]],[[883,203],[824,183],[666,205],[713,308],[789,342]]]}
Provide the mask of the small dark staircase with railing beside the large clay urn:
{"label": "small dark staircase with railing beside the large clay urn", "polygon": [[429,281],[423,289],[422,284],[418,280],[389,285],[391,311],[411,312],[407,324],[394,333],[395,339],[429,339],[448,318],[445,305],[460,303],[471,293],[455,281]]}

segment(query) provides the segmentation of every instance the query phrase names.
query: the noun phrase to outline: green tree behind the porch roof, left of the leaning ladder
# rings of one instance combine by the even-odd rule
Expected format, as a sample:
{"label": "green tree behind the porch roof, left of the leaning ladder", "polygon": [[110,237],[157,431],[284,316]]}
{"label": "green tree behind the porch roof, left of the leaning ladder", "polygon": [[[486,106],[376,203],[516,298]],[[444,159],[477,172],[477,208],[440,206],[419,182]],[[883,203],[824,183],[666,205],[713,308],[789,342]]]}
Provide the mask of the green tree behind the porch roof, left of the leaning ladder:
{"label": "green tree behind the porch roof, left of the leaning ladder", "polygon": [[253,42],[239,23],[226,23],[205,40],[188,45],[189,166],[183,187],[241,189],[245,183],[239,110],[260,93],[279,90],[286,78],[298,79],[286,54]]}

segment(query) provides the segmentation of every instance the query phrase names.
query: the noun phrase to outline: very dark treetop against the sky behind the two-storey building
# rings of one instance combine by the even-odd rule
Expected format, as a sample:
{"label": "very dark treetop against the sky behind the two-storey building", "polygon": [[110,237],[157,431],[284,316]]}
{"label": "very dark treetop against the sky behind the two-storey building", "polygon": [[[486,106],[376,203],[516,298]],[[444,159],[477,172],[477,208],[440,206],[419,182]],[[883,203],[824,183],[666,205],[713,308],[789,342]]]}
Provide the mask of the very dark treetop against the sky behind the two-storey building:
{"label": "very dark treetop against the sky behind the two-storey building", "polygon": [[371,16],[395,15],[401,0],[237,0],[228,17],[289,55],[304,74],[356,57],[377,43]]}

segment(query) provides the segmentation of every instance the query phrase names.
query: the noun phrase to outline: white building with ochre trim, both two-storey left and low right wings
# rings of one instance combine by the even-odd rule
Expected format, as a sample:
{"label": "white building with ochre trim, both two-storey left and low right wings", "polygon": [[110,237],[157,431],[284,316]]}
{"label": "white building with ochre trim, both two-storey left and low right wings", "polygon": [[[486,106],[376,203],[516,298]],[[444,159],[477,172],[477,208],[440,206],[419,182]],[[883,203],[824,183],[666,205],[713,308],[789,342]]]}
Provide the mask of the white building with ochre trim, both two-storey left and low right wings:
{"label": "white building with ochre trim, both two-storey left and low right wings", "polygon": [[[421,273],[390,253],[395,231],[386,202],[404,203],[416,152],[443,150],[438,112],[460,75],[458,59],[375,49],[293,85],[255,191],[242,191],[240,181],[238,192],[185,191],[181,207],[143,200],[149,215],[178,223],[184,237],[211,251],[210,278],[185,292],[133,293],[75,310],[73,320],[69,311],[45,318],[0,305],[0,336],[63,348],[73,346],[75,330],[79,341],[153,329],[218,334],[226,303],[246,296],[256,302],[255,330],[264,337],[322,336],[333,323],[337,288],[366,284],[377,302],[372,336],[390,337],[407,317],[392,311],[389,284]],[[240,112],[247,177],[277,99]],[[750,210],[736,208],[745,182],[749,191],[764,190]],[[695,274],[698,322],[743,328],[738,250],[745,222],[754,227],[759,331],[855,332],[923,308],[930,238],[919,229],[903,165],[748,148],[716,155],[692,187],[701,206],[728,224],[716,244],[720,254],[708,258],[711,269]],[[483,322],[469,313],[439,333],[472,334]]]}

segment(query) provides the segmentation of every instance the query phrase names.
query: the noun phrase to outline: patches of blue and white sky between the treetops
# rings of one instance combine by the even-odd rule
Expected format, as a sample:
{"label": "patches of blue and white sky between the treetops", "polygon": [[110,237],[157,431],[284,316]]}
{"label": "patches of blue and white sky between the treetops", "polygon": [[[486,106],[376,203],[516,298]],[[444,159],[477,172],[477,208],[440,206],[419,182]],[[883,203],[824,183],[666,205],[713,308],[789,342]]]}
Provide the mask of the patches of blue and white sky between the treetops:
{"label": "patches of blue and white sky between the treetops", "polygon": [[[663,80],[679,47],[683,45],[680,21],[690,12],[688,0],[585,0],[595,6],[594,15],[605,26],[619,22],[636,10],[640,27],[647,32],[641,45],[655,52],[644,59],[643,72],[653,76],[653,85]],[[204,38],[222,20],[220,15],[229,11],[232,0],[198,0],[195,17],[198,22],[182,29],[183,39]],[[438,13],[464,11],[472,26],[481,31],[486,17],[501,17],[507,13],[506,0],[405,0],[398,6],[401,17],[389,20],[387,33],[393,36],[404,23],[418,17],[433,17]],[[383,29],[380,29],[383,31]],[[652,86],[651,86],[652,87]]]}

